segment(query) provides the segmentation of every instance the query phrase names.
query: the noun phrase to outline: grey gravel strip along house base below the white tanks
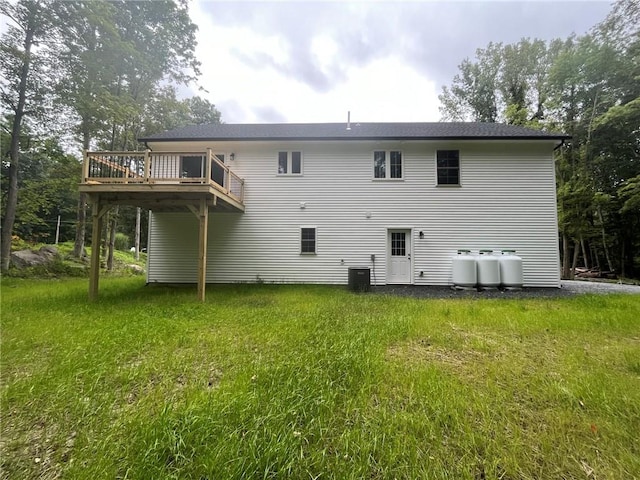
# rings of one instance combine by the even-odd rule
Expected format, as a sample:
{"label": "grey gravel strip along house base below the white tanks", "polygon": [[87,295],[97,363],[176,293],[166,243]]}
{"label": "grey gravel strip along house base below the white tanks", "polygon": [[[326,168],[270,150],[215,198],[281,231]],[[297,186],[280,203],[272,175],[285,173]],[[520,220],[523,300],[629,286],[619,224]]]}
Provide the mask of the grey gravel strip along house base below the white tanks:
{"label": "grey gravel strip along house base below the white tanks", "polygon": [[384,285],[372,287],[374,293],[416,298],[561,298],[583,293],[640,294],[640,285],[594,282],[583,280],[562,280],[561,288],[523,288],[522,290],[454,290],[443,286]]}

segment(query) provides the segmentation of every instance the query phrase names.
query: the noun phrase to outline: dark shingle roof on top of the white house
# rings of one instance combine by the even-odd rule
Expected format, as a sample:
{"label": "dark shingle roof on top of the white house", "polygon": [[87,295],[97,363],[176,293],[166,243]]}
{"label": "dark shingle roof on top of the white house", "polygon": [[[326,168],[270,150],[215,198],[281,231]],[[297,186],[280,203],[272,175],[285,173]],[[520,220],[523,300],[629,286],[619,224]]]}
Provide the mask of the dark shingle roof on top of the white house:
{"label": "dark shingle roof on top of the white house", "polygon": [[254,123],[193,125],[140,138],[147,141],[194,140],[564,140],[549,133],[501,123]]}

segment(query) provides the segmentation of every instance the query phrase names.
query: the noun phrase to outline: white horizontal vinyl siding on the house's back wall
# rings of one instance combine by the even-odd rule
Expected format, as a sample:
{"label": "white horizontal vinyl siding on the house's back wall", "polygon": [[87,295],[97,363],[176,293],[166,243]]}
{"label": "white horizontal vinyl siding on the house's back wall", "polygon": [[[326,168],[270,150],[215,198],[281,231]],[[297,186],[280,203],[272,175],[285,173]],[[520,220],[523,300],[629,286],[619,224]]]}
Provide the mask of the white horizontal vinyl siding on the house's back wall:
{"label": "white horizontal vinyl siding on the house's back wall", "polygon": [[[372,282],[384,284],[387,232],[411,228],[412,283],[450,284],[458,249],[509,248],[523,259],[525,286],[560,285],[553,142],[405,142],[404,181],[372,182],[372,152],[395,147],[378,143],[188,145],[234,151],[245,179],[246,212],[210,215],[207,281],[346,284],[348,267],[373,267],[373,254]],[[302,150],[303,177],[273,174],[274,151]],[[460,151],[464,185],[437,186],[436,150]],[[300,254],[305,225],[322,232],[316,255]],[[149,281],[195,282],[196,217],[155,213],[150,231]]]}

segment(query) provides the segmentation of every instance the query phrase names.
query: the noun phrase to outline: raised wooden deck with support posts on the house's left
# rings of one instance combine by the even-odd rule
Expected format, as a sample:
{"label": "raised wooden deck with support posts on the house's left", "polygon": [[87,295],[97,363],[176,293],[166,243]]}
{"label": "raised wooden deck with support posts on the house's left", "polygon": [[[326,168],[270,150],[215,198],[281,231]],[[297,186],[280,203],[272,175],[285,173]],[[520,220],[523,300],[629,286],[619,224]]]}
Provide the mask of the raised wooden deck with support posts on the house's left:
{"label": "raised wooden deck with support posts on the house's left", "polygon": [[89,298],[98,298],[100,234],[115,205],[190,211],[199,223],[198,298],[205,299],[211,210],[244,212],[244,180],[206,152],[85,152],[80,192],[92,204]]}

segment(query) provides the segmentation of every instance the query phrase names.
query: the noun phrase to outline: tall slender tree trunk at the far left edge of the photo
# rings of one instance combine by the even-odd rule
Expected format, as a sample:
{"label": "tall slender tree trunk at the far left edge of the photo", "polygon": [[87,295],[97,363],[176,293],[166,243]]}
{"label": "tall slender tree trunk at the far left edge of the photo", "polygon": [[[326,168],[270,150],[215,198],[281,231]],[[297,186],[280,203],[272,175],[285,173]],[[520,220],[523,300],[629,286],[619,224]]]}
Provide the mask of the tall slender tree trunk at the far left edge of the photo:
{"label": "tall slender tree trunk at the far left edge of the photo", "polygon": [[[37,17],[38,12],[34,12]],[[24,117],[24,107],[27,98],[27,78],[31,66],[31,46],[36,22],[29,22],[24,38],[24,61],[20,69],[20,84],[18,86],[18,103],[16,105],[11,126],[11,146],[9,147],[9,188],[7,189],[7,200],[4,220],[2,222],[2,235],[0,241],[0,270],[9,270],[11,260],[11,236],[13,235],[13,224],[16,221],[16,207],[18,205],[18,162],[20,160],[20,132],[22,131],[22,118]]]}

